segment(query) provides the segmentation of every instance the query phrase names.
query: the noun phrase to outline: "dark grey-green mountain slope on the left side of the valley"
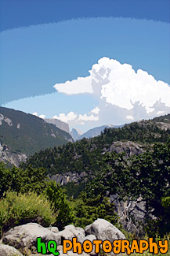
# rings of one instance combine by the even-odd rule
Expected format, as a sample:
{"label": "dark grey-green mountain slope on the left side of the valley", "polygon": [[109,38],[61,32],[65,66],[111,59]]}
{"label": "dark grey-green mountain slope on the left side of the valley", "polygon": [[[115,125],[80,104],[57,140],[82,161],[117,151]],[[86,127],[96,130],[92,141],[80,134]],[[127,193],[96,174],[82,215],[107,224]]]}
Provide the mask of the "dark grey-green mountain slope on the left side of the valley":
{"label": "dark grey-green mountain slope on the left side of the valley", "polygon": [[71,135],[43,119],[0,107],[0,143],[13,153],[34,154],[72,141]]}

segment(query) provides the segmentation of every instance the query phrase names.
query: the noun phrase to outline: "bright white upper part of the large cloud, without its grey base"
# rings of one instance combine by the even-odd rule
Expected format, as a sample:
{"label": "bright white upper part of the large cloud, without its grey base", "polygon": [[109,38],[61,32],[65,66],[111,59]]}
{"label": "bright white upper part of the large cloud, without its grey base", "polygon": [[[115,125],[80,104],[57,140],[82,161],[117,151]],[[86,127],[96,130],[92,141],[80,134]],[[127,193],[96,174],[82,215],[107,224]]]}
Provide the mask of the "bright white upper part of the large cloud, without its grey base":
{"label": "bright white upper part of the large cloud, without its grey base", "polygon": [[[89,73],[90,76],[58,83],[54,87],[69,95],[93,93],[111,105],[128,110],[133,109],[135,103],[139,102],[147,114],[154,112],[153,106],[156,102],[165,103],[165,106],[170,107],[168,83],[155,80],[154,76],[141,69],[135,72],[132,65],[103,57],[97,64],[92,65]],[[94,111],[96,108],[92,113],[95,113]]]}

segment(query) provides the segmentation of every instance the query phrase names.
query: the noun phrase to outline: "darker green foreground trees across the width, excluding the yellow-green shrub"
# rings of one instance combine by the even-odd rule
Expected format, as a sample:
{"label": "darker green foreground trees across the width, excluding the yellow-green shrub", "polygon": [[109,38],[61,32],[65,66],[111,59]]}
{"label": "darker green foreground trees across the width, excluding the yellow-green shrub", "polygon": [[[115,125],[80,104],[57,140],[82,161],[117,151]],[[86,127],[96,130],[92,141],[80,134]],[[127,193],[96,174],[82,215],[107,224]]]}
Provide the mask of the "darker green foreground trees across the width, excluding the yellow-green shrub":
{"label": "darker green foreground trees across the width, excluding the yellow-green shrub", "polygon": [[[170,230],[170,140],[163,144],[156,143],[151,150],[128,159],[124,154],[104,154],[97,162],[92,179],[85,184],[85,190],[70,201],[62,187],[48,180],[44,169],[33,169],[31,166],[27,169],[7,169],[3,164],[0,166],[2,202],[6,200],[9,190],[20,196],[20,193],[27,195],[30,192],[36,193],[36,196],[43,195],[49,200],[53,213],[57,213],[54,224],[60,229],[70,223],[85,227],[97,217],[118,226],[114,205],[109,202],[109,196],[117,193],[121,199],[138,198],[139,195],[145,199],[148,218],[143,228],[149,236],[159,234],[162,237]],[[157,217],[156,221],[150,219],[151,212]]]}

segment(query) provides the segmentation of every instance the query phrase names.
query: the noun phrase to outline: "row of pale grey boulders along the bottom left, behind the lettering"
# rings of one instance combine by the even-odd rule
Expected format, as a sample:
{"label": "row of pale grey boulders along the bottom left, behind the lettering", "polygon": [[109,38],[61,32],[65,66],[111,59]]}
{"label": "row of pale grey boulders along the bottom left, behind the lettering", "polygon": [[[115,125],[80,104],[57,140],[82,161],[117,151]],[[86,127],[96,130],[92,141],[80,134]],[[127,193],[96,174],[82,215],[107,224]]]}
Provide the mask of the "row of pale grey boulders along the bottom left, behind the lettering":
{"label": "row of pale grey boulders along the bottom left, behind the lettering", "polygon": [[[63,254],[64,239],[72,240],[76,237],[77,241],[80,242],[81,245],[85,240],[89,240],[92,243],[93,240],[96,239],[101,239],[102,241],[107,239],[112,243],[114,239],[125,239],[125,236],[120,230],[118,230],[118,228],[103,219],[97,219],[92,224],[85,227],[85,230],[83,228],[75,228],[74,225],[69,224],[60,232],[58,232],[58,228],[56,227],[43,228],[39,224],[28,223],[12,228],[4,234],[2,238],[3,244],[0,243],[0,256],[9,256],[11,254],[20,256],[22,255],[21,253],[24,255],[39,255],[36,248],[38,237],[42,238],[43,243],[48,243],[49,240],[56,241],[57,250],[59,250],[60,256],[79,255],[77,253],[73,253],[71,250],[67,251],[67,254]],[[89,254],[96,255],[94,245]],[[82,251],[82,255],[84,256],[88,256],[89,254]]]}

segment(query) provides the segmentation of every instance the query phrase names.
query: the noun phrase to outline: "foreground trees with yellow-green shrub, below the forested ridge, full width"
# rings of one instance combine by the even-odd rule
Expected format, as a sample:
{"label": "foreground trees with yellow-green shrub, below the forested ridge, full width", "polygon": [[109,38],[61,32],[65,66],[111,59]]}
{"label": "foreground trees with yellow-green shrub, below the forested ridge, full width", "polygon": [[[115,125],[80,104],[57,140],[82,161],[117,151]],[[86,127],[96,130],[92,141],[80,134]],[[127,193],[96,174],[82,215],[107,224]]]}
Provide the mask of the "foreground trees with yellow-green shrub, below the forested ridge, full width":
{"label": "foreground trees with yellow-green shrub, below the forested ridge, full width", "polygon": [[[135,227],[132,236],[163,237],[170,232],[170,139],[166,143],[154,143],[143,154],[132,158],[114,151],[103,154],[103,158],[96,161],[96,169],[86,180],[83,191],[79,191],[78,198],[71,196],[66,200],[62,187],[48,181],[46,175],[44,169],[31,166],[6,169],[0,165],[2,232],[16,223],[24,224],[34,219],[46,225],[55,223],[62,228],[71,223],[85,227],[98,217],[118,228],[123,225],[126,232],[133,234],[125,224],[130,221]],[[127,204],[125,212],[128,216],[122,219],[117,206],[110,202],[112,195],[117,195],[120,203],[129,202],[127,200],[133,205],[143,202],[142,219],[139,220],[136,213],[128,213]]]}

